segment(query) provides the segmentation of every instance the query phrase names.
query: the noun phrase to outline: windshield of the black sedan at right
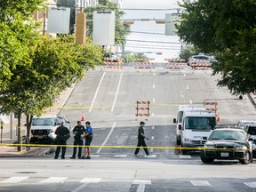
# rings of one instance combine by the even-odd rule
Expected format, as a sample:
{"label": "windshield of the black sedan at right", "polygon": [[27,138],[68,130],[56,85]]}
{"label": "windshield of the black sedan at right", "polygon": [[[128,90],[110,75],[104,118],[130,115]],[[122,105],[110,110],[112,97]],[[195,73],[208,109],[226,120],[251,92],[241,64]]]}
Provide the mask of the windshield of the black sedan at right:
{"label": "windshield of the black sedan at right", "polygon": [[246,140],[244,132],[234,130],[214,131],[209,140]]}

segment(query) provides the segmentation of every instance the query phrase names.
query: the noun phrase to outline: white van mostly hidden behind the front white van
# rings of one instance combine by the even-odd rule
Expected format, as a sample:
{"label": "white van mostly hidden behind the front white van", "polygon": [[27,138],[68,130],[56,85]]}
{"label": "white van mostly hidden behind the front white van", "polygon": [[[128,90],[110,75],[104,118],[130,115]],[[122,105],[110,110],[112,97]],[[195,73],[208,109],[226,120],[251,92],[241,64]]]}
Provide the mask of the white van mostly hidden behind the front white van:
{"label": "white van mostly hidden behind the front white van", "polygon": [[181,144],[181,129],[179,127],[182,124],[183,113],[185,110],[200,110],[204,108],[194,107],[192,105],[180,105],[177,113],[177,118],[173,118],[173,124],[176,124],[176,144]]}

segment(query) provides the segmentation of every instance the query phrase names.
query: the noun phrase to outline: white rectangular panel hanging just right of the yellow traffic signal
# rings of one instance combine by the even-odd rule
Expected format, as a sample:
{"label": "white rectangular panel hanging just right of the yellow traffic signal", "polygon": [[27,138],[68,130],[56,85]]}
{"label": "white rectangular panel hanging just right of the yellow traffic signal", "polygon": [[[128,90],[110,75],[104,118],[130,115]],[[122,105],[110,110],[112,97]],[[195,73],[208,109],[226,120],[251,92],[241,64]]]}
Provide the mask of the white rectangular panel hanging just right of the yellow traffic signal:
{"label": "white rectangular panel hanging just right of the yellow traffic signal", "polygon": [[93,12],[92,43],[96,45],[115,44],[115,12]]}

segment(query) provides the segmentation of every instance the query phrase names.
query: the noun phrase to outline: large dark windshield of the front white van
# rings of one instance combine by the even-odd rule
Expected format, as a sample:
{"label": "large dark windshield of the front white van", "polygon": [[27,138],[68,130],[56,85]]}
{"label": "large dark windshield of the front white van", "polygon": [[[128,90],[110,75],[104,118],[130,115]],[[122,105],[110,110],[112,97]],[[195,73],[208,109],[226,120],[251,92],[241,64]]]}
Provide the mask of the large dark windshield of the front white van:
{"label": "large dark windshield of the front white van", "polygon": [[187,116],[185,120],[185,129],[213,130],[215,126],[215,117]]}

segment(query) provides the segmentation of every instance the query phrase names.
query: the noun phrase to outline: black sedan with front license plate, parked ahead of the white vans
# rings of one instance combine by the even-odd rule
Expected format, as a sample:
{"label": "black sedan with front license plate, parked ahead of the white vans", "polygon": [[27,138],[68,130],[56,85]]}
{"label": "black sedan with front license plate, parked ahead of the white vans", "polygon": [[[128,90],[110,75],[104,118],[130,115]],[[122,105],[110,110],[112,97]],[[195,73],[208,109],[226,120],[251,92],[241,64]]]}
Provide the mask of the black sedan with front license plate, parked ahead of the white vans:
{"label": "black sedan with front license plate, parked ahead of the white vans", "polygon": [[239,160],[241,164],[252,162],[252,139],[242,129],[215,129],[204,144],[201,160],[210,164],[214,159]]}

